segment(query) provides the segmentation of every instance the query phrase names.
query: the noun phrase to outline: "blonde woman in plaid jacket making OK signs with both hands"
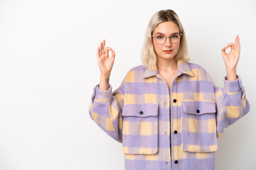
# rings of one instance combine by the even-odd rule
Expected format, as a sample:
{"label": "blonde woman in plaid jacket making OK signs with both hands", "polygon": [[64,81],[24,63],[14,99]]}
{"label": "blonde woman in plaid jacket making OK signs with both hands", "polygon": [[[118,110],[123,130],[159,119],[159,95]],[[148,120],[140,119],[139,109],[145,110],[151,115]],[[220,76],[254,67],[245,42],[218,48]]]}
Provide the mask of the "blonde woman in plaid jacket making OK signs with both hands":
{"label": "blonde woman in plaid jacket making OK signs with both hands", "polygon": [[130,69],[112,93],[115,53],[100,42],[100,84],[92,94],[90,116],[122,142],[125,169],[215,169],[217,138],[250,110],[236,74],[238,35],[235,45],[221,52],[227,72],[223,89],[203,67],[188,62],[186,34],[176,13],[159,11],[146,30],[142,65]]}

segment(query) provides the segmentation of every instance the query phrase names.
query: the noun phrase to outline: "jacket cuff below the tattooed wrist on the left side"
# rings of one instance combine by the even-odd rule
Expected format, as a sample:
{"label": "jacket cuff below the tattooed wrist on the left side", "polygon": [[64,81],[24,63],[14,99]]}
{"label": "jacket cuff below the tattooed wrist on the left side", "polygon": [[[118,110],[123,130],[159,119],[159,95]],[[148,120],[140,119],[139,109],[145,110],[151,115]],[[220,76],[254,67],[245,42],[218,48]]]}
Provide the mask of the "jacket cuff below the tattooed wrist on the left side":
{"label": "jacket cuff below the tattooed wrist on the left side", "polygon": [[92,101],[93,99],[96,99],[97,101],[110,101],[112,98],[112,86],[110,85],[109,89],[107,90],[102,90],[99,89],[99,85],[97,84],[95,88],[93,89],[92,93]]}

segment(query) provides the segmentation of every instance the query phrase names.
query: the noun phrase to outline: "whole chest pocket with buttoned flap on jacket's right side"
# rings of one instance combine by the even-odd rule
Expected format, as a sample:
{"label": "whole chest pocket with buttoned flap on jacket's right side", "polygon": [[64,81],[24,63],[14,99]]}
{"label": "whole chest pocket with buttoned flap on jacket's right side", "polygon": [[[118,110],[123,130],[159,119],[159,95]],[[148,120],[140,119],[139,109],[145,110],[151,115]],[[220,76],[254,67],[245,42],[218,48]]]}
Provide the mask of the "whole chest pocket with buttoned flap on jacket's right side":
{"label": "whole chest pocket with buttoned flap on jacket's right side", "polygon": [[183,101],[181,147],[188,152],[217,150],[216,109],[210,101]]}

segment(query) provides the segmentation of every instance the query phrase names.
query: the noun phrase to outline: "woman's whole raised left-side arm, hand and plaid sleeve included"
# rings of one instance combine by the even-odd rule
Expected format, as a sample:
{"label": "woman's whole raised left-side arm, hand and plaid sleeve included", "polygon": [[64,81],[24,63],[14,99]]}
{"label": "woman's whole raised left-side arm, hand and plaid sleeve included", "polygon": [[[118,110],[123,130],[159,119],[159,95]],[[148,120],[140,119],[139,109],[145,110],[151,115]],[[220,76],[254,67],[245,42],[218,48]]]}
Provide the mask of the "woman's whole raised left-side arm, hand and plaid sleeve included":
{"label": "woman's whole raised left-side arm, hand and plaid sleeve included", "polygon": [[[109,56],[112,52],[112,57]],[[92,120],[108,135],[122,142],[122,106],[124,96],[124,81],[112,94],[110,85],[110,73],[114,64],[114,50],[105,49],[105,40],[97,47],[97,63],[100,68],[100,84],[95,86],[92,94],[92,102],[89,106],[89,114]]]}

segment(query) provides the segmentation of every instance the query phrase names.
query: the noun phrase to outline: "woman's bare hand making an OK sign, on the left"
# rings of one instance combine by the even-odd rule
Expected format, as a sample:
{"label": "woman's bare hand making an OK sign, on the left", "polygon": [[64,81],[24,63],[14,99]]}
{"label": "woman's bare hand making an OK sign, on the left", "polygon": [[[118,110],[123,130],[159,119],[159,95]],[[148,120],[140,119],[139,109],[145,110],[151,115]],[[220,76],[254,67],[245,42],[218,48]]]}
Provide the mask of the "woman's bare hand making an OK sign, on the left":
{"label": "woman's bare hand making an OK sign, on the left", "polygon": [[[100,42],[100,47],[97,47],[97,63],[100,67],[100,74],[110,76],[114,64],[115,53],[111,47],[105,47],[105,40]],[[109,56],[109,51],[111,51],[111,58]]]}

